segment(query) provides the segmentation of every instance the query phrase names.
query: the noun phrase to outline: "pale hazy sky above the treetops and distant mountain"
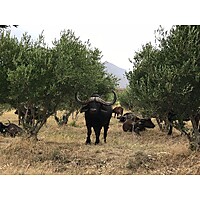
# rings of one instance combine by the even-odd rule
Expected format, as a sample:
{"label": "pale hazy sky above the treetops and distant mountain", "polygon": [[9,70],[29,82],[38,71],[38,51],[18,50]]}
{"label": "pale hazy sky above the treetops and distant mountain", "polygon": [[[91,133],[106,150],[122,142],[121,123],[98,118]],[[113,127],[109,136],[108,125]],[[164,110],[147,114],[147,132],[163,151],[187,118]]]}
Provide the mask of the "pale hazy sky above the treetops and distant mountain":
{"label": "pale hazy sky above the treetops and distant mountain", "polygon": [[65,25],[19,25],[12,28],[12,33],[22,35],[24,32],[37,37],[42,30],[48,44],[54,38],[60,37],[60,31],[72,29],[82,41],[90,39],[93,47],[102,51],[102,61],[111,62],[126,70],[132,69],[128,58],[133,58],[134,52],[138,51],[142,44],[154,42],[154,30],[159,25],[141,24],[95,24],[95,23],[66,23]]}

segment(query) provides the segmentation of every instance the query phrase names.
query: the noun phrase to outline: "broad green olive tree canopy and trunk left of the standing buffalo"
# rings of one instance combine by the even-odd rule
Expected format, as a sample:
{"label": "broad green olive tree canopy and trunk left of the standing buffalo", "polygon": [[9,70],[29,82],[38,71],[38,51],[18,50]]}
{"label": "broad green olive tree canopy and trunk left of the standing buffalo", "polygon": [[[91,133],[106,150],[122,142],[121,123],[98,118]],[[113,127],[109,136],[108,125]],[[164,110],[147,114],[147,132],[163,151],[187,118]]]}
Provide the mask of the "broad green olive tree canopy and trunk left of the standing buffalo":
{"label": "broad green olive tree canopy and trunk left of the standing buffalo", "polygon": [[[31,137],[37,138],[41,127],[57,109],[77,108],[76,91],[85,96],[94,91],[106,94],[116,84],[104,71],[101,52],[89,42],[83,43],[70,30],[62,31],[51,48],[46,45],[43,33],[35,41],[27,33],[20,41],[12,40],[10,35],[6,37],[6,42],[16,50],[8,45],[10,64],[6,63],[4,50],[1,58],[5,69],[2,76],[7,83],[5,98],[18,110],[30,109],[33,120],[31,123],[24,121],[23,127]],[[40,112],[39,119],[36,119],[36,108]]]}

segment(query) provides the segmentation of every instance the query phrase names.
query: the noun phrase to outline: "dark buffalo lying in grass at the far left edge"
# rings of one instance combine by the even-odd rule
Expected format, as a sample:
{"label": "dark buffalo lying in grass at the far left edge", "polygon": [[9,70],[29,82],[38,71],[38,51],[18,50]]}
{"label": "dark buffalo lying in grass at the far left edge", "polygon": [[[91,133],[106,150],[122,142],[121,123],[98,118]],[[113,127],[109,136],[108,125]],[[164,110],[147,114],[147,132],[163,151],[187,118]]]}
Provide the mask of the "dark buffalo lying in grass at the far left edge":
{"label": "dark buffalo lying in grass at the far left edge", "polygon": [[2,122],[0,122],[0,132],[3,133],[3,136],[8,133],[11,137],[15,137],[17,134],[22,133],[23,129],[10,122],[8,125],[4,125]]}

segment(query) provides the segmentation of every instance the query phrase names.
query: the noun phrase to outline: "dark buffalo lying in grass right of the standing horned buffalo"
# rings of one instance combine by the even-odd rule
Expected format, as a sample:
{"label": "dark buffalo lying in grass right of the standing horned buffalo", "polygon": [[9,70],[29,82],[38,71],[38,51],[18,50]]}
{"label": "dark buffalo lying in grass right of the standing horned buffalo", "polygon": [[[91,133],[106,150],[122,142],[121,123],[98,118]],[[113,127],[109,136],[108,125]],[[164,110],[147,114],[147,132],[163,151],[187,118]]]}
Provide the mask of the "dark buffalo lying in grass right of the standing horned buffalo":
{"label": "dark buffalo lying in grass right of the standing horned buffalo", "polygon": [[123,131],[127,132],[135,132],[138,135],[140,135],[140,131],[144,131],[146,128],[154,128],[155,125],[151,121],[150,118],[147,119],[139,119],[138,118],[133,118],[133,119],[128,119],[124,122],[122,128]]}

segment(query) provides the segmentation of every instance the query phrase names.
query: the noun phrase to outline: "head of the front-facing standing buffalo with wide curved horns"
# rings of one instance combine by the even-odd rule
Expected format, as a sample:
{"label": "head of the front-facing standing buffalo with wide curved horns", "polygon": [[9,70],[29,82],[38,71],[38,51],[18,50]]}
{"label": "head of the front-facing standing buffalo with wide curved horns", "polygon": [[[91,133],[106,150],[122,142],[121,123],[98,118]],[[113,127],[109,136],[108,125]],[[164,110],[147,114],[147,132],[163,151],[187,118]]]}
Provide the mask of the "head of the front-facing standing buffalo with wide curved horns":
{"label": "head of the front-facing standing buffalo with wide curved horns", "polygon": [[76,93],[75,95],[76,101],[78,101],[83,105],[80,112],[89,111],[91,114],[95,114],[98,111],[107,112],[106,106],[113,105],[117,100],[116,93],[114,91],[112,92],[114,94],[114,99],[112,102],[104,101],[102,98],[100,98],[98,94],[93,94],[88,100],[82,101],[79,99],[78,93]]}

